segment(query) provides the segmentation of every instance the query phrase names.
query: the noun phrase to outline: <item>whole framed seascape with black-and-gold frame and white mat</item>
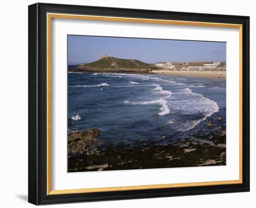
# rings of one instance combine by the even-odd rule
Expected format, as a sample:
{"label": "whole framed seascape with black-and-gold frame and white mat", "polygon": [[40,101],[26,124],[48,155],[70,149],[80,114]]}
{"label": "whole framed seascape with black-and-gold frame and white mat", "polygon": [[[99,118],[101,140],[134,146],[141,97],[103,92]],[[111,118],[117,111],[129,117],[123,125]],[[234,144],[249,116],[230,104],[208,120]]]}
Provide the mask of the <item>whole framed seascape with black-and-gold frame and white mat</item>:
{"label": "whole framed seascape with black-and-gold frame and white mat", "polygon": [[28,201],[249,191],[249,17],[28,7]]}

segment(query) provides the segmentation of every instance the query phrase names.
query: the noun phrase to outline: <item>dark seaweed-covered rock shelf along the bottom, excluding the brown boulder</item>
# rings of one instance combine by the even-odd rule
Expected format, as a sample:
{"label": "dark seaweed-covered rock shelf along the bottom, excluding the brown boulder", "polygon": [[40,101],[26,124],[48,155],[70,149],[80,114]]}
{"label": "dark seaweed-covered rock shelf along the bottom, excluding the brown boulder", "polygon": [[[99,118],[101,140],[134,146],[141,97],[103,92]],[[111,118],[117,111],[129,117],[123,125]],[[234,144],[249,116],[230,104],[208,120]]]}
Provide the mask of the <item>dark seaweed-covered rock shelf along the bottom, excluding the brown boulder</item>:
{"label": "dark seaweed-covered rock shelf along the bottom, excluding the brown boulder", "polygon": [[[194,142],[191,143],[191,138],[185,138],[184,141],[177,141],[167,145],[141,143],[140,146],[134,147],[128,145],[114,146],[109,142],[102,149],[104,153],[98,154],[99,150],[95,148],[97,144],[93,142],[91,146],[86,148],[85,154],[68,158],[68,172],[176,168],[226,164],[226,148],[218,145],[226,143],[225,135],[222,136],[219,132],[214,135],[201,135],[200,132],[200,134],[195,135],[195,138],[212,141],[215,145],[210,145],[207,142],[204,143],[201,139],[197,140],[196,144]],[[181,146],[177,145],[177,143],[181,144]],[[185,148],[185,144],[189,146]],[[89,153],[87,154],[87,152]],[[76,160],[77,158],[83,161],[78,162]],[[215,161],[215,163],[207,164],[207,161]],[[108,164],[108,167],[106,166],[104,169],[99,168],[102,164]],[[91,168],[87,168],[90,166]]]}

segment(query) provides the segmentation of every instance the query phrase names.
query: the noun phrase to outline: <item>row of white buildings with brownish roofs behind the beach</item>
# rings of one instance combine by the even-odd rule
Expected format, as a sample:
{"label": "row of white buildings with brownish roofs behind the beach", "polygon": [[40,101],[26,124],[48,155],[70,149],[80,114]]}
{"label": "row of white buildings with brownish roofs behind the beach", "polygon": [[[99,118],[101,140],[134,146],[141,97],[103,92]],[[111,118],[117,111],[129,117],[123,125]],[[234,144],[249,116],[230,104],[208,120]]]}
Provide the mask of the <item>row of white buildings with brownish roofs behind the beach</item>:
{"label": "row of white buildings with brownish roofs behind the beach", "polygon": [[155,66],[165,69],[180,69],[186,71],[198,71],[198,70],[216,70],[221,62],[192,62],[192,63],[178,63],[178,62],[157,62]]}

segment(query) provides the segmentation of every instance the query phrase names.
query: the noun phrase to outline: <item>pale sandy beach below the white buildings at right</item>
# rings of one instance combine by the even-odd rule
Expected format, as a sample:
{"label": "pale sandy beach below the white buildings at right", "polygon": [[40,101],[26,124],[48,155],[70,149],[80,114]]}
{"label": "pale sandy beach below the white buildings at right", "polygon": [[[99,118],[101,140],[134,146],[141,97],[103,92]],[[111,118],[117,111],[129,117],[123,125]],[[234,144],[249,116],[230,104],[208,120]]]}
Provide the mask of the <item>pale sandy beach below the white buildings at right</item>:
{"label": "pale sandy beach below the white buildings at right", "polygon": [[226,71],[170,71],[170,70],[154,70],[151,71],[154,74],[166,74],[176,76],[193,76],[202,78],[226,78]]}

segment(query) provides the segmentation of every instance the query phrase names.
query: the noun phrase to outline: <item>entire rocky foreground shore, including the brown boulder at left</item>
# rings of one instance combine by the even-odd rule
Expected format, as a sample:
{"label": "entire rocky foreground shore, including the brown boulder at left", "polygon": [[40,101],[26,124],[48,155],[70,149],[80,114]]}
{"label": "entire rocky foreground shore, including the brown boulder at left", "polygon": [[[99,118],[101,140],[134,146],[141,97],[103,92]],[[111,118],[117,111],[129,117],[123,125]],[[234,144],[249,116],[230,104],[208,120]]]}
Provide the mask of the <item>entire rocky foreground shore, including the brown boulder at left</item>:
{"label": "entire rocky foreground shore, including the brown boulder at left", "polygon": [[68,134],[68,172],[226,165],[225,131],[215,136],[198,135],[196,143],[188,139],[134,148],[109,144],[103,151],[97,148],[100,133],[88,129]]}

